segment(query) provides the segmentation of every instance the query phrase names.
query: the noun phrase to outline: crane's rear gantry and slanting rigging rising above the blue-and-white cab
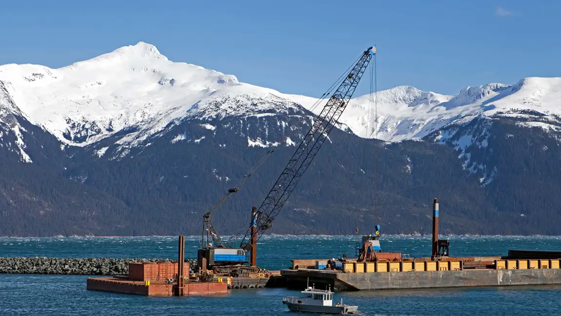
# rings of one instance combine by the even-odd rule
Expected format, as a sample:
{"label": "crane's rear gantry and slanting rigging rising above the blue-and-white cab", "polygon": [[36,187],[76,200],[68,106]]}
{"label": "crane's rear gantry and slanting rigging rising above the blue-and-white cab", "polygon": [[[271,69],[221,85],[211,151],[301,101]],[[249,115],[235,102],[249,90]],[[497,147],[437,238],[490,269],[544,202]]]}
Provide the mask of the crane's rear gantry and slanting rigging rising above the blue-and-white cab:
{"label": "crane's rear gantry and slanting rigging rising above the blue-and-white cab", "polygon": [[[251,168],[243,178],[236,184],[236,186],[229,188],[228,193],[220,200],[216,205],[214,205],[205,215],[203,215],[203,236],[201,238],[201,249],[208,249],[209,247],[216,247],[222,248],[224,247],[224,243],[222,242],[222,238],[218,235],[214,225],[212,223],[212,214],[215,210],[218,209],[220,204],[228,199],[228,197],[232,196],[233,194],[237,193],[240,190],[240,187],[251,177],[251,174],[257,170],[264,162],[273,154],[274,150],[269,150],[266,154],[257,162],[257,164]],[[212,243],[210,242],[212,240]],[[214,245],[214,246],[213,246]]]}

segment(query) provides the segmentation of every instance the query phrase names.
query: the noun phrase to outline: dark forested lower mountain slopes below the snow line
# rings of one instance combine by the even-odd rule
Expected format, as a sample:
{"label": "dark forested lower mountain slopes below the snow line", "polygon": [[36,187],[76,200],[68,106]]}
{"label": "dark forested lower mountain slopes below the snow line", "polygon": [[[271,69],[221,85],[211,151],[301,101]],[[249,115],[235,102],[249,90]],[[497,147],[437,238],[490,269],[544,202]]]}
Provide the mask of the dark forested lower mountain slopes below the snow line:
{"label": "dark forested lower mountain slopes below the snow line", "polygon": [[[113,159],[119,154],[115,141],[133,130],[60,150],[56,138],[20,118],[33,163],[19,162],[9,146],[0,147],[0,236],[200,234],[203,214],[270,150],[249,147],[247,138],[299,139],[309,124],[287,117],[293,128],[284,130],[275,120],[208,122],[215,130],[185,121],[148,139],[149,146],[128,148],[126,156]],[[465,150],[470,164],[482,166],[475,172],[462,166],[466,159],[453,138],[384,143],[334,129],[270,232],[352,234],[380,224],[383,233],[430,234],[431,202],[438,197],[443,233],[560,234],[561,150],[555,137],[509,119],[477,119],[461,129],[486,141]],[[172,142],[177,134],[205,139]],[[9,143],[8,136],[2,142]],[[109,149],[99,158],[95,152],[102,147]],[[245,232],[251,207],[259,207],[296,149],[274,148],[240,192],[215,211],[219,233]]]}

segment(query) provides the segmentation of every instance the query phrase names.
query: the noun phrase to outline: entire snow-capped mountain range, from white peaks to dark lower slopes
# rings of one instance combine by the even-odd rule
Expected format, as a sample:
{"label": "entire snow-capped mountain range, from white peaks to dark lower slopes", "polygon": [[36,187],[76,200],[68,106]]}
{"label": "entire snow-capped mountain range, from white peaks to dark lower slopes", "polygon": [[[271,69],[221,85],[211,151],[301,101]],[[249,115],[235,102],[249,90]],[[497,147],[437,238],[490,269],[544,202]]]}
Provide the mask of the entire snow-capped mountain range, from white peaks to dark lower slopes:
{"label": "entire snow-capped mountain range, from white peaks to dark lower slopes", "polygon": [[[356,96],[275,232],[354,231],[356,222],[332,219],[378,221],[375,195],[389,232],[418,231],[430,227],[423,199],[434,195],[449,203],[449,232],[495,233],[486,223],[501,223],[503,233],[556,233],[558,100],[561,78],[456,96],[407,86]],[[222,218],[224,228],[245,226],[325,102],[172,62],[142,42],[59,69],[0,66],[0,216],[9,228],[0,234],[196,233],[224,186],[275,148]],[[374,193],[375,173],[383,185]],[[196,219],[177,221],[177,210]]]}

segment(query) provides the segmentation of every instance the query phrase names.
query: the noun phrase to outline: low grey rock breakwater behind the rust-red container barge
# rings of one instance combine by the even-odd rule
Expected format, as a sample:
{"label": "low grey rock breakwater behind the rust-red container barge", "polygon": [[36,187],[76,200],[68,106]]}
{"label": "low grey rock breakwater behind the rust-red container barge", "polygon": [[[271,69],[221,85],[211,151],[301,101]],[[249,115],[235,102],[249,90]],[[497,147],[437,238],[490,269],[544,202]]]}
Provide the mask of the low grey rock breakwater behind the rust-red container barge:
{"label": "low grey rock breakwater behind the rust-red container barge", "polygon": [[[139,258],[47,258],[47,257],[0,257],[0,273],[21,274],[74,274],[87,276],[128,275],[128,264],[134,262],[169,262],[170,259]],[[196,260],[185,260],[191,271]]]}

